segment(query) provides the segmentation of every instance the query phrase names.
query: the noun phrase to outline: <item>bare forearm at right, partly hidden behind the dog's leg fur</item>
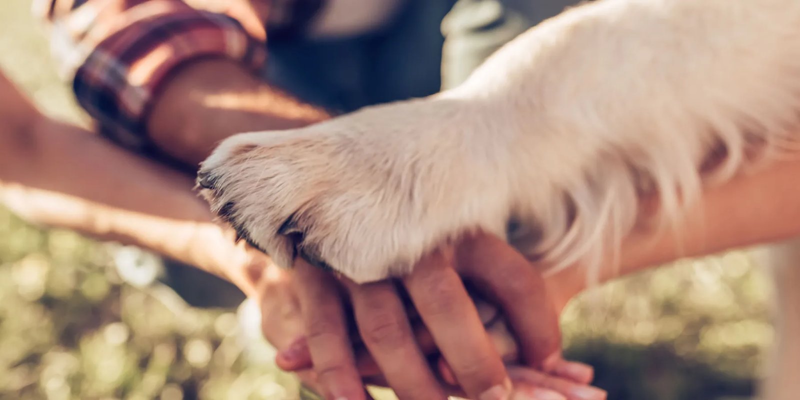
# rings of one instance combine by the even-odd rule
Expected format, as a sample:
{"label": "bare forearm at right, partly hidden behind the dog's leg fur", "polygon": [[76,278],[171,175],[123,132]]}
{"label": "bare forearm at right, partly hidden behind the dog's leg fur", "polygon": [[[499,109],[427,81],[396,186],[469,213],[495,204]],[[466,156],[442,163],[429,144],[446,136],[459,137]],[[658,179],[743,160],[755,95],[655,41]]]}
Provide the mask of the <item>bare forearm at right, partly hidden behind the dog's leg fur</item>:
{"label": "bare forearm at right, partly hidden behind the dog's leg fur", "polygon": [[[705,191],[673,233],[634,231],[622,243],[620,263],[603,267],[601,281],[678,258],[701,257],[800,235],[800,159],[775,162]],[[586,289],[586,270],[568,268],[549,277],[559,298]]]}

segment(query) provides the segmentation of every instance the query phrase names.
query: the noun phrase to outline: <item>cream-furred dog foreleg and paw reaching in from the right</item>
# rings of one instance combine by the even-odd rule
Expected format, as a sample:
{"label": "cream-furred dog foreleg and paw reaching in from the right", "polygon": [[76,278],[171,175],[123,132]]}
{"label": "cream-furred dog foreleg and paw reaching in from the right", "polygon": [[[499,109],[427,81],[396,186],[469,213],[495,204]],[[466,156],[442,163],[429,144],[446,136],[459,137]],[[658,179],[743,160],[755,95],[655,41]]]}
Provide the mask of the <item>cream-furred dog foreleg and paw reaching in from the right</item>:
{"label": "cream-furred dog foreleg and paw reaching in from the right", "polygon": [[212,206],[284,266],[299,250],[370,282],[470,230],[557,268],[598,266],[642,194],[666,226],[798,132],[800,1],[600,0],[454,90],[239,134],[202,174]]}

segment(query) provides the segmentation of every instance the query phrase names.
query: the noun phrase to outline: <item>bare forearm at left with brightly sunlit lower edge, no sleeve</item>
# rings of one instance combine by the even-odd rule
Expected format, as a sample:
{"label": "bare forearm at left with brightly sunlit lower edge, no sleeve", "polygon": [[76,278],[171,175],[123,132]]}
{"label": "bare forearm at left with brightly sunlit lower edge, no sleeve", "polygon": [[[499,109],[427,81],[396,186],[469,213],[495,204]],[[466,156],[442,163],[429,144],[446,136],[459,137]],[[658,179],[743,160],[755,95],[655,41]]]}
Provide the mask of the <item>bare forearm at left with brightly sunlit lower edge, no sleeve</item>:
{"label": "bare forearm at left with brightly sunlit lower edge, no sleeve", "polygon": [[[25,146],[11,143],[24,136]],[[0,143],[0,201],[31,222],[142,246],[239,286],[250,254],[212,222],[192,178],[45,120]]]}

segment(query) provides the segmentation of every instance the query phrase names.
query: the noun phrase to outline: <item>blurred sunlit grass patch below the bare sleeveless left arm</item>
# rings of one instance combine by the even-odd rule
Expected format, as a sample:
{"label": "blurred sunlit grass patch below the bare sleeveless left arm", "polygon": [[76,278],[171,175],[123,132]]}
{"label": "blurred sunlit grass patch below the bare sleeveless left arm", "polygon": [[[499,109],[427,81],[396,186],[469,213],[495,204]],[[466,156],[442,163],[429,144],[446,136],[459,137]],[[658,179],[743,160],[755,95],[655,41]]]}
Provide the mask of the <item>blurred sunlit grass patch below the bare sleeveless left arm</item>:
{"label": "blurred sunlit grass patch below the bare sleeveless left arm", "polygon": [[0,398],[296,398],[232,312],[122,284],[111,248],[0,213]]}

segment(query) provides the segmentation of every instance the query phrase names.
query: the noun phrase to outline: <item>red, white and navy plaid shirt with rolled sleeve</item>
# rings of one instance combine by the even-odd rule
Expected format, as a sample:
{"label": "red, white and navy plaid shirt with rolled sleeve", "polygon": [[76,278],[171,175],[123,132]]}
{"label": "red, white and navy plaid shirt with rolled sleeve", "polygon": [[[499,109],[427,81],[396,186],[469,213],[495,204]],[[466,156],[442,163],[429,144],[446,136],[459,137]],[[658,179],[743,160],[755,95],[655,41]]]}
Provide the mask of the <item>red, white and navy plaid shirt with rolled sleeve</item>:
{"label": "red, white and navy plaid shirt with rolled sleeve", "polygon": [[[222,14],[233,3],[34,0],[34,12],[50,22],[59,71],[72,80],[78,102],[98,120],[102,133],[132,150],[148,151],[152,143],[146,136],[147,114],[178,67],[209,57],[230,58],[251,70],[265,62],[265,43]],[[309,20],[310,10],[318,10],[320,3],[240,0],[238,4],[252,6],[259,20],[285,32]]]}

